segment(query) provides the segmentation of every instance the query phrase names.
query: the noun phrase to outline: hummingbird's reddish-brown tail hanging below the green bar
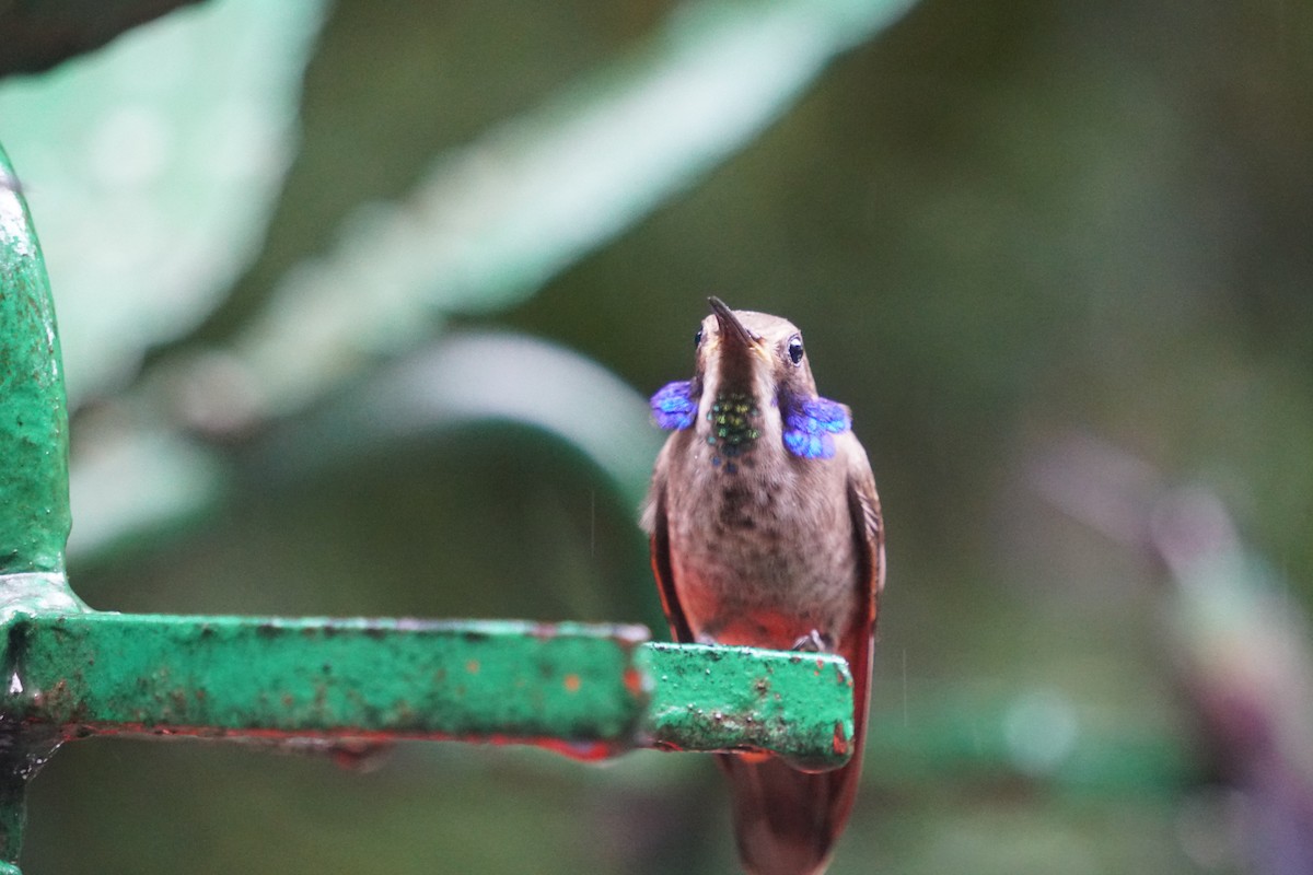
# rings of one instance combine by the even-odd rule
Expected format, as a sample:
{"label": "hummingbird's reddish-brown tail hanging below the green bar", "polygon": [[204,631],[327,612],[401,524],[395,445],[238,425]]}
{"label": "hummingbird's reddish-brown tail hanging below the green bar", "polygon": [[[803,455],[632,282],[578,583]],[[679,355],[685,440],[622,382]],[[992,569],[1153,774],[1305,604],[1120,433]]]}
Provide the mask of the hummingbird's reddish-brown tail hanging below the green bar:
{"label": "hummingbird's reddish-brown tail hanging below the green bar", "polygon": [[720,757],[730,779],[739,859],[750,875],[825,872],[852,808],[860,753],[857,760],[811,773],[775,757]]}

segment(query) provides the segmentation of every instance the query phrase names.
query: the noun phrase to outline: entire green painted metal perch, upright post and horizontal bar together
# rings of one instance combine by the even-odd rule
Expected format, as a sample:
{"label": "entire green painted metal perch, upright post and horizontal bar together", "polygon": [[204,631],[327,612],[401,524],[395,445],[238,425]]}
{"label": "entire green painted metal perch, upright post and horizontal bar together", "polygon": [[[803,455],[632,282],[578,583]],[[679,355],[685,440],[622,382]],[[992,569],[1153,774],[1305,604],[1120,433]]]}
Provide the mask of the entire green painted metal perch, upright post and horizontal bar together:
{"label": "entire green painted metal perch, upright post and horizontal bar together", "polygon": [[0,151],[0,875],[18,872],[28,781],[95,735],[848,760],[852,678],[835,656],[655,644],[638,626],[92,611],[64,572],[67,455],[49,281]]}

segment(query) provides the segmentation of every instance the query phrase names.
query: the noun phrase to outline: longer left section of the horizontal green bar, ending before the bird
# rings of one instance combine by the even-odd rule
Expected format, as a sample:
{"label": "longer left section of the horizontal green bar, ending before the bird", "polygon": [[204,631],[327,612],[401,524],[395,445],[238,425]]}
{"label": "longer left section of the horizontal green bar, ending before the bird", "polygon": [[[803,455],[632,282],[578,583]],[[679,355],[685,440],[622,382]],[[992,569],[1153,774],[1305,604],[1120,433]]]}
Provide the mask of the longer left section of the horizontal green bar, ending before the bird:
{"label": "longer left section of the horizontal green bar, ending before the bird", "polygon": [[13,704],[72,735],[624,744],[645,704],[626,626],[83,614],[11,627]]}

